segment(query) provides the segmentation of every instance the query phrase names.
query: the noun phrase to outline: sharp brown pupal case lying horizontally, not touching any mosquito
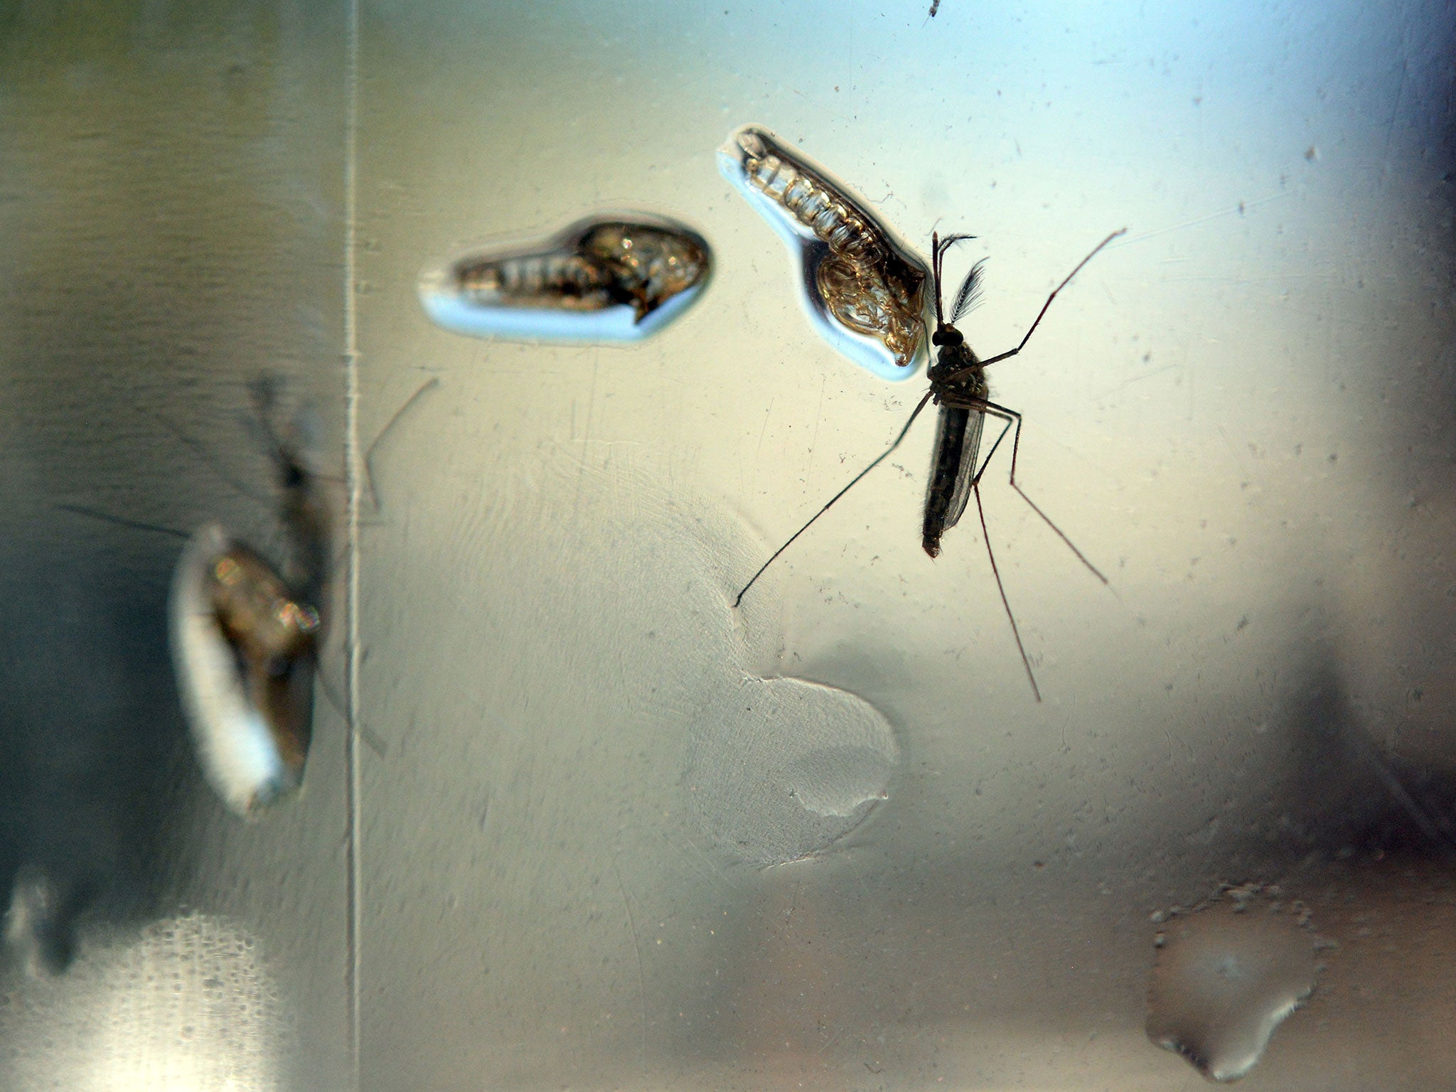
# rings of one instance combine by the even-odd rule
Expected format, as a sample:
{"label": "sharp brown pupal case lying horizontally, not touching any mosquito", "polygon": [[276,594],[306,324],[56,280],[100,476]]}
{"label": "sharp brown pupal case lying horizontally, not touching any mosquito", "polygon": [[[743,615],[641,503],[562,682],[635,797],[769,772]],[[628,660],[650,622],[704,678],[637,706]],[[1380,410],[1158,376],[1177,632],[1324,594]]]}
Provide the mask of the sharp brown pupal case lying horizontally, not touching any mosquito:
{"label": "sharp brown pupal case lying horizontally, not touching any mosquito", "polygon": [[464,255],[427,271],[419,298],[435,323],[457,333],[639,341],[681,314],[711,271],[700,234],[667,217],[629,213]]}

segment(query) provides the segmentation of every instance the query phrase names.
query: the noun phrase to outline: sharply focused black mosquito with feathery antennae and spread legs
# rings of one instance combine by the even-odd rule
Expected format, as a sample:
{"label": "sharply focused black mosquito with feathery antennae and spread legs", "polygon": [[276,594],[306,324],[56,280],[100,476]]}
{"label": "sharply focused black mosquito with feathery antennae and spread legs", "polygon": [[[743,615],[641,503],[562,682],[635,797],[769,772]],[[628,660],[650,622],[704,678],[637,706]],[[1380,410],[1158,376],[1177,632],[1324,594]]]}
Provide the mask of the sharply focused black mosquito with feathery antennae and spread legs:
{"label": "sharply focused black mosquito with feathery antennae and spread legs", "polygon": [[[1057,537],[1066,543],[1077,561],[1080,561],[1088,571],[1096,577],[1099,581],[1107,584],[1107,577],[1104,577],[1098,568],[1083,556],[1072,540],[1057,527],[1051,518],[1037,507],[1037,504],[1026,496],[1025,491],[1016,483],[1016,454],[1021,448],[1021,414],[1008,406],[997,405],[990,400],[990,386],[986,381],[986,368],[999,361],[1015,357],[1024,348],[1026,342],[1031,341],[1031,335],[1035,333],[1037,326],[1045,316],[1047,309],[1051,307],[1051,301],[1057,298],[1057,293],[1072,282],[1082,266],[1092,261],[1102,248],[1117,239],[1120,234],[1127,232],[1121,229],[1114,232],[1095,248],[1092,252],[1077,262],[1076,268],[1066,275],[1066,278],[1047,297],[1047,301],[1041,304],[1041,310],[1037,312],[1035,320],[1031,323],[1031,329],[1021,339],[1021,344],[1013,349],[1006,349],[994,357],[986,360],[977,358],[971,351],[971,347],[965,344],[965,338],[955,328],[955,323],[976,304],[977,296],[981,288],[981,271],[984,268],[984,259],[976,262],[971,271],[961,281],[960,290],[955,293],[955,298],[951,303],[949,317],[946,317],[943,307],[943,274],[942,266],[945,262],[945,252],[949,250],[955,243],[973,239],[968,234],[951,234],[941,239],[939,233],[930,236],[930,274],[935,282],[935,333],[930,335],[930,344],[939,349],[935,363],[930,365],[926,379],[930,381],[930,389],[925,392],[925,396],[916,405],[914,411],[910,414],[910,419],[906,421],[904,428],[894,438],[894,443],[887,447],[875,462],[860,470],[855,478],[834,494],[828,502],[810,517],[808,523],[799,527],[788,542],[785,542],[779,549],[773,552],[753,578],[744,584],[738,597],[734,600],[734,607],[743,603],[743,597],[747,594],[748,588],[754,585],[754,581],[763,575],[763,571],[772,565],[780,553],[783,553],[795,539],[798,539],[804,531],[812,526],[812,523],[827,513],[833,504],[847,494],[859,480],[879,466],[891,451],[900,447],[900,441],[906,438],[914,419],[920,416],[920,411],[926,408],[929,402],[935,402],[941,408],[941,421],[936,428],[935,437],[935,453],[930,459],[930,480],[926,486],[925,496],[925,526],[922,529],[922,545],[925,552],[932,558],[941,553],[941,537],[951,530],[961,518],[965,511],[965,505],[971,495],[976,496],[976,511],[981,521],[981,537],[986,542],[986,556],[992,562],[992,575],[996,578],[996,590],[1000,593],[1002,607],[1006,610],[1006,620],[1010,622],[1012,636],[1016,639],[1016,651],[1021,654],[1022,667],[1026,668],[1026,680],[1031,683],[1031,693],[1035,699],[1041,700],[1041,690],[1037,687],[1037,676],[1031,670],[1031,660],[1026,657],[1026,646],[1021,641],[1021,630],[1016,626],[1016,616],[1010,610],[1010,600],[1006,598],[1006,585],[1002,584],[1000,569],[996,566],[996,553],[992,550],[992,540],[986,530],[986,513],[981,508],[981,476],[986,473],[986,467],[990,464],[992,457],[996,454],[996,448],[1000,447],[1002,441],[1006,438],[1008,432],[1012,432],[1010,444],[1010,488],[1015,489],[1021,498],[1031,505],[1031,510],[1041,517]],[[981,430],[986,424],[986,418],[993,416],[1002,422],[1000,432],[996,435],[994,443],[986,453],[984,459],[980,459],[981,450]]]}

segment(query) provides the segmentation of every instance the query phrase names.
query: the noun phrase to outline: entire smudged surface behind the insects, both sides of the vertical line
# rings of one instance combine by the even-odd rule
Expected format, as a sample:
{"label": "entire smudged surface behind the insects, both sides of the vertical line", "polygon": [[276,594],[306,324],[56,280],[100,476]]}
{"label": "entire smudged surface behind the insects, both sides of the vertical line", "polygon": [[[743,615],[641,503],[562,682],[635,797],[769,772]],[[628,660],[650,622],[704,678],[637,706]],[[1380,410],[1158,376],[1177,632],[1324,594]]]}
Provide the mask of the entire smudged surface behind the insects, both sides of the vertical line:
{"label": "entire smudged surface behind the insects, both sides of the vertical line", "polygon": [[[138,9],[86,39],[111,60],[60,71],[41,58],[74,31],[3,25],[0,124],[29,150],[0,160],[26,620],[4,776],[70,794],[12,794],[3,863],[134,855],[68,974],[7,971],[16,1072],[116,1086],[108,1059],[170,1048],[208,1086],[218,1054],[151,1044],[229,1025],[240,1086],[348,1086],[357,1005],[367,1089],[1197,1088],[1144,1034],[1150,914],[1254,881],[1322,946],[1243,1086],[1446,1080],[1441,6],[365,3],[352,345],[345,17],[259,10]],[[77,95],[119,102],[114,124],[77,130]],[[922,250],[933,227],[980,236],[960,269],[990,256],[961,323],[981,355],[1128,227],[990,374],[1026,415],[1025,488],[1112,585],[989,476],[1041,705],[974,517],[920,550],[929,421],[728,610],[923,387],[837,358],[799,312],[783,245],[715,166],[747,122]],[[175,162],[77,159],[108,140]],[[479,341],[421,310],[441,259],[598,210],[715,248],[654,338]],[[237,381],[269,363],[329,406],[338,450],[354,348],[357,935],[336,713],[320,700],[304,795],[234,824],[166,674],[175,546],[47,507],[211,514],[215,469],[128,409],[147,393],[256,480]],[[76,721],[64,766],[36,753]],[[127,992],[233,949],[232,1009]]]}

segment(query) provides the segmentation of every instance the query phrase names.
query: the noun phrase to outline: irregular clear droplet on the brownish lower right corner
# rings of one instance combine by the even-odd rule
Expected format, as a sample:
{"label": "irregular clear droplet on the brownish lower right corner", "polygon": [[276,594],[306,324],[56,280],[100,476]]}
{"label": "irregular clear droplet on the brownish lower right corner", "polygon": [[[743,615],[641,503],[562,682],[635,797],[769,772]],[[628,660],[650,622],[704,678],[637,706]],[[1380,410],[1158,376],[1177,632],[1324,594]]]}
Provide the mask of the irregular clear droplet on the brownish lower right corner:
{"label": "irregular clear droplet on the brownish lower right corner", "polygon": [[1258,888],[1174,914],[1159,945],[1147,1037],[1210,1080],[1248,1073],[1315,987],[1312,936]]}

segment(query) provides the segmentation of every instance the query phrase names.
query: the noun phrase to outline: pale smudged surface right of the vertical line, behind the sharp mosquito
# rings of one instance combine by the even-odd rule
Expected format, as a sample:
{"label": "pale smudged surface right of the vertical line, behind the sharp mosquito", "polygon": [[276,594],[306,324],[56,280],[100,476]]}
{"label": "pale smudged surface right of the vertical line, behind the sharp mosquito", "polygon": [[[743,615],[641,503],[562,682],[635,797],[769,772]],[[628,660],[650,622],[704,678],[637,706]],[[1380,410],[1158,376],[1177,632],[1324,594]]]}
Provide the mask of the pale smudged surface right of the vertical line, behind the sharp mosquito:
{"label": "pale smudged surface right of the vertical line, behind the sharp mosquito", "polygon": [[[1452,888],[1382,778],[1449,808],[1449,26],[1402,12],[365,6],[365,418],[441,379],[361,550],[367,1086],[1192,1088],[1143,1031],[1149,913],[1245,879],[1342,945],[1245,1083],[1433,1079]],[[930,422],[728,616],[923,389],[801,313],[715,170],[747,122],[922,250],[978,234],[983,355],[1128,227],[990,374],[1112,582],[987,486],[1042,705],[974,514],[920,550]],[[416,307],[438,255],[597,207],[715,246],[651,341]],[[836,747],[888,798],[786,830],[761,785]]]}

